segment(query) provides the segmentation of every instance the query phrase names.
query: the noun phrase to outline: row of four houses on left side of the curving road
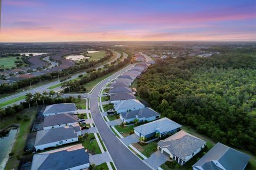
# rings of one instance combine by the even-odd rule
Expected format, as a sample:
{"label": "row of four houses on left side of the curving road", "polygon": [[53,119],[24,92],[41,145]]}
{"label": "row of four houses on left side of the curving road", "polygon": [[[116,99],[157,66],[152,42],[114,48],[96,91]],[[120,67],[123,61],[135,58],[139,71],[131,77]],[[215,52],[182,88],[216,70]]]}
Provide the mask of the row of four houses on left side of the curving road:
{"label": "row of four houses on left side of the curving road", "polygon": [[[35,150],[78,142],[82,135],[74,103],[49,105],[43,112],[42,130],[36,132]],[[33,156],[31,169],[86,169],[89,154],[81,144],[40,152]]]}

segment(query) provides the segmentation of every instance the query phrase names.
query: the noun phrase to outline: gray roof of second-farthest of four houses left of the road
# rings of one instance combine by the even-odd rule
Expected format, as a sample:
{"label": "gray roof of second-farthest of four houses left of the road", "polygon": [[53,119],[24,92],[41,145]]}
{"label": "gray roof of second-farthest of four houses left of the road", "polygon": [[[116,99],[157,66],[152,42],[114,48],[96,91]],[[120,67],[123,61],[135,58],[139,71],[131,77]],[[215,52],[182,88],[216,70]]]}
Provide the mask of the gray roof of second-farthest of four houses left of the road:
{"label": "gray roof of second-farthest of four houses left of the road", "polygon": [[58,114],[58,115],[44,117],[43,127],[75,123],[75,122],[77,122],[76,115],[70,115],[68,113]]}

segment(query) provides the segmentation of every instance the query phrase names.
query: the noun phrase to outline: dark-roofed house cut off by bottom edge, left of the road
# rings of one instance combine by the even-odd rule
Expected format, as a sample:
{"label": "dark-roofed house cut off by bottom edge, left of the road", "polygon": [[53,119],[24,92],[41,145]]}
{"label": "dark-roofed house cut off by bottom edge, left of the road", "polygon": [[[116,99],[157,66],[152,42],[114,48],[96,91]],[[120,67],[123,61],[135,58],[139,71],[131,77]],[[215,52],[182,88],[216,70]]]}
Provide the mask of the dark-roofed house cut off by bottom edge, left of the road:
{"label": "dark-roofed house cut off by bottom edge, left of the road", "polygon": [[31,170],[80,170],[89,167],[89,154],[85,151],[82,144],[78,144],[35,154],[33,156]]}

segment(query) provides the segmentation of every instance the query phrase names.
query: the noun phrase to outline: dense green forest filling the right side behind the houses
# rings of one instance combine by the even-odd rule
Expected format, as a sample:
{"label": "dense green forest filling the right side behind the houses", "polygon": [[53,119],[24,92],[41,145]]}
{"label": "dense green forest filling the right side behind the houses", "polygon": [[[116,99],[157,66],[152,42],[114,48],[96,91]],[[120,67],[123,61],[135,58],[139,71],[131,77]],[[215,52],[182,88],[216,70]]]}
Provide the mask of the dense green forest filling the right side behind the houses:
{"label": "dense green forest filling the right side behind the houses", "polygon": [[139,79],[139,95],[162,116],[256,154],[255,54],[233,49],[158,60]]}

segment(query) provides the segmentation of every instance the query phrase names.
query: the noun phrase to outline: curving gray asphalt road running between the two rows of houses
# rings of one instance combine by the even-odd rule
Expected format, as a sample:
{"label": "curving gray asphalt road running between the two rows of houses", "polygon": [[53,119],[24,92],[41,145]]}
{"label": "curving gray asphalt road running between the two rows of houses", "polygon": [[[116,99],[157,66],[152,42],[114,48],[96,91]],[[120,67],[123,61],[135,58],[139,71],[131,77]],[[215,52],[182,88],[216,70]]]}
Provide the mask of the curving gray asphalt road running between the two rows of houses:
{"label": "curving gray asphalt road running between the two rows of houses", "polygon": [[[123,70],[111,75],[108,79],[116,78],[119,74],[127,71],[132,66],[133,65],[131,64],[125,67]],[[119,139],[117,139],[101,116],[98,106],[98,96],[101,88],[108,82],[108,79],[100,82],[90,95],[90,109],[93,121],[97,126],[97,129],[105,142],[105,145],[117,169],[151,169],[144,162],[142,162],[142,160],[135,156],[128,148],[126,148]]]}

